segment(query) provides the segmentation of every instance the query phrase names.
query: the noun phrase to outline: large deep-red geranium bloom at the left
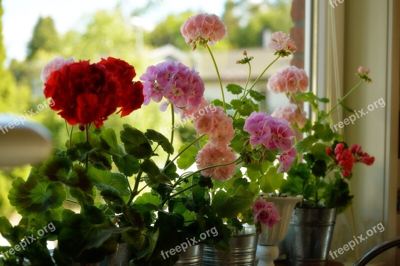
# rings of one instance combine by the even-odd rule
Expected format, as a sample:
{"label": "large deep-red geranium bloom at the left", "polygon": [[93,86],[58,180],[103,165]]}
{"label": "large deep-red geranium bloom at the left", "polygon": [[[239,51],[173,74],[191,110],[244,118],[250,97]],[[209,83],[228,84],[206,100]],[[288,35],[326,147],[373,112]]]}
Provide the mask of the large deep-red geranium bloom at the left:
{"label": "large deep-red geranium bloom at the left", "polygon": [[133,66],[121,59],[108,57],[92,64],[80,60],[52,71],[43,92],[69,124],[93,122],[99,127],[117,107],[121,116],[140,108],[143,85],[132,81],[135,75]]}

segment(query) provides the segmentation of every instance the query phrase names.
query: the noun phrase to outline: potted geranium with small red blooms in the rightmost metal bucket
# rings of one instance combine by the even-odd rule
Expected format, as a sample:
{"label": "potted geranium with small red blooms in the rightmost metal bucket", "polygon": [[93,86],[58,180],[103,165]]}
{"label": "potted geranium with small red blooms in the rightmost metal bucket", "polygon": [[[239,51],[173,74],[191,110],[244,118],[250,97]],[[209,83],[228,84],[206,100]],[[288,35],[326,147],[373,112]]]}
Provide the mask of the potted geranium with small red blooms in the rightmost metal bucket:
{"label": "potted geranium with small red blooms in the rightmost metal bucket", "polygon": [[[319,98],[305,89],[300,89],[300,93],[297,93],[292,87],[291,84],[301,82],[304,75],[302,69],[289,66],[268,80],[269,90],[286,93],[294,102],[277,107],[272,115],[287,119],[296,130],[305,134],[303,139],[294,144],[296,159],[279,188],[281,193],[303,196],[293,212],[287,236],[288,260],[304,262],[310,259],[309,261],[315,262],[319,259],[321,263],[327,260],[336,213],[344,211],[353,197],[348,185],[353,165],[356,162],[371,165],[374,161],[374,157],[363,152],[361,146],[348,146],[342,135],[332,129],[330,117],[339,105],[351,111],[343,104],[343,100],[362,82],[371,81],[368,73],[369,69],[359,67],[356,74],[360,82],[329,111],[319,108],[320,103],[328,103],[327,98]],[[305,116],[305,112],[299,107],[299,101],[309,102],[316,117],[314,121]],[[300,241],[303,243],[301,248],[296,248]]]}

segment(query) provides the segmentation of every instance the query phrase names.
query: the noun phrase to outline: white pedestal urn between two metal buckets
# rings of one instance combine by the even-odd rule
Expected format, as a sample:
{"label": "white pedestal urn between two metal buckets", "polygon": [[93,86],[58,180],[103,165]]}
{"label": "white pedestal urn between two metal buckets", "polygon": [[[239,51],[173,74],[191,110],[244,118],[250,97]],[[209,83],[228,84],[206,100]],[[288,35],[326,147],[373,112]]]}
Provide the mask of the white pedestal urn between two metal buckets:
{"label": "white pedestal urn between two metal buckets", "polygon": [[302,196],[263,196],[263,199],[275,204],[281,218],[280,222],[275,223],[272,228],[261,224],[262,231],[258,238],[258,266],[273,266],[273,260],[279,256],[279,249],[276,244],[280,243],[285,238],[294,206],[302,199]]}

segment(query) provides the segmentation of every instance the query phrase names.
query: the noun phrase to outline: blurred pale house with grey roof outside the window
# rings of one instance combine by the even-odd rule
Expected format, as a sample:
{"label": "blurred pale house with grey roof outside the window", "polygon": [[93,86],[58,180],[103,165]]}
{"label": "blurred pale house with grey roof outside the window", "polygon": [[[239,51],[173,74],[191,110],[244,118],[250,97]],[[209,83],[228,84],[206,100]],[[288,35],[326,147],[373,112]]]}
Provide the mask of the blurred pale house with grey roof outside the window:
{"label": "blurred pale house with grey roof outside the window", "polygon": [[[273,55],[268,48],[263,47],[246,48],[246,51],[248,56],[254,57],[254,59],[250,61],[251,75],[248,84],[248,86],[250,86],[265,67],[276,58],[276,55]],[[217,63],[224,89],[229,83],[239,84],[244,87],[248,76],[248,65],[236,63],[237,60],[244,58],[243,49],[212,49],[212,53]],[[205,97],[207,99],[221,98],[216,71],[206,49],[198,47],[194,51],[182,51],[171,44],[167,44],[149,51],[149,58],[151,58],[151,64],[156,64],[165,60],[177,60],[189,67],[194,66],[204,80]],[[279,58],[265,71],[261,79],[257,82],[257,85],[254,87],[254,89],[265,94],[267,97],[265,102],[260,103],[260,107],[263,110],[272,112],[277,105],[287,102],[284,95],[273,94],[267,91],[266,82],[268,77],[274,72],[289,65],[290,60],[291,56]],[[225,92],[225,100],[227,102],[233,98],[236,98],[236,96],[229,92]]]}

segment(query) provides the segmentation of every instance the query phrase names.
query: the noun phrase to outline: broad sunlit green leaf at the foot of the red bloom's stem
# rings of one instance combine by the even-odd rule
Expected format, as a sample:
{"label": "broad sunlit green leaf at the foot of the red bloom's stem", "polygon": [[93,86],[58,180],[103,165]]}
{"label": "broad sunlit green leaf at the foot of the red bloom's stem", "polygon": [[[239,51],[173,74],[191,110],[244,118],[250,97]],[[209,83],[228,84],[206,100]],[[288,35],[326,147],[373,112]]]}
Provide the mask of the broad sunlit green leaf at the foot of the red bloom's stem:
{"label": "broad sunlit green leaf at the foot of the red bloom's stem", "polygon": [[94,167],[89,167],[88,172],[99,191],[113,190],[122,197],[130,195],[128,183],[122,173],[100,170]]}

